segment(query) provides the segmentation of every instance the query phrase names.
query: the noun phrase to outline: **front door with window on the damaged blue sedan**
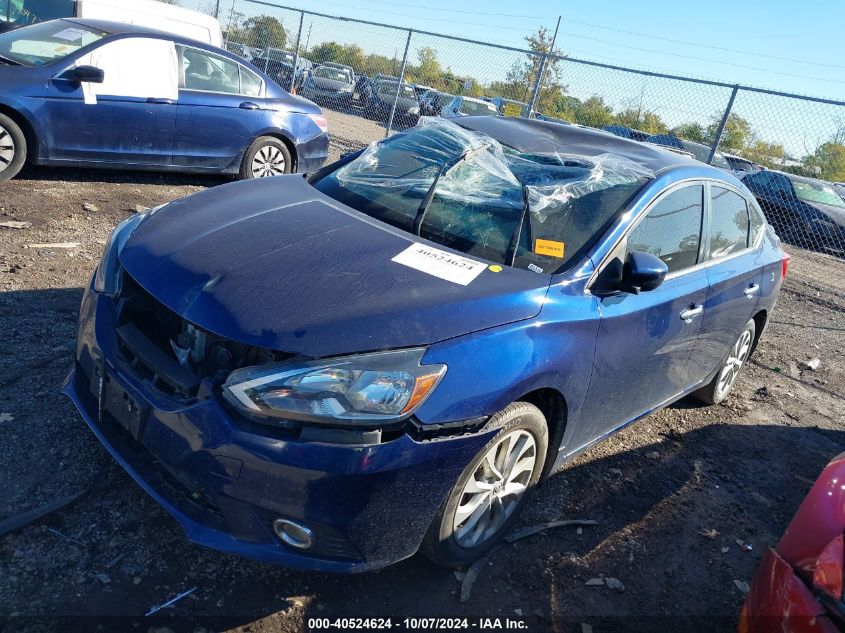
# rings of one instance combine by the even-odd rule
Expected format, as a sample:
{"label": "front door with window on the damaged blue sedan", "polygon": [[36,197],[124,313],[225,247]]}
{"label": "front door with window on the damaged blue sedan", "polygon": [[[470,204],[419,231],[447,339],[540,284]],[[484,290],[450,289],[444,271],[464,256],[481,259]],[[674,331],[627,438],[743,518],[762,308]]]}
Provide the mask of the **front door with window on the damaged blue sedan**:
{"label": "front door with window on the damaged blue sedan", "polygon": [[611,255],[644,251],[669,267],[663,284],[640,294],[599,299],[601,323],[593,375],[576,444],[601,437],[692,384],[689,358],[707,299],[702,264],[704,185],[689,184],[659,198]]}

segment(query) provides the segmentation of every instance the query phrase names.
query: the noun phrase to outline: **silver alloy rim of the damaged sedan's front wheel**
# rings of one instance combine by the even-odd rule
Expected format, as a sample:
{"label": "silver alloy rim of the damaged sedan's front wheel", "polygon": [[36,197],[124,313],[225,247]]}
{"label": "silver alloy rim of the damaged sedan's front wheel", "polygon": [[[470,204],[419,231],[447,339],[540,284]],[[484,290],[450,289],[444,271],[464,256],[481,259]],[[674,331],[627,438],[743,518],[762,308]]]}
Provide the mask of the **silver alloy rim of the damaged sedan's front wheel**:
{"label": "silver alloy rim of the damaged sedan's front wheel", "polygon": [[537,443],[522,429],[503,436],[484,455],[455,509],[455,541],[475,547],[495,536],[519,506],[537,462]]}

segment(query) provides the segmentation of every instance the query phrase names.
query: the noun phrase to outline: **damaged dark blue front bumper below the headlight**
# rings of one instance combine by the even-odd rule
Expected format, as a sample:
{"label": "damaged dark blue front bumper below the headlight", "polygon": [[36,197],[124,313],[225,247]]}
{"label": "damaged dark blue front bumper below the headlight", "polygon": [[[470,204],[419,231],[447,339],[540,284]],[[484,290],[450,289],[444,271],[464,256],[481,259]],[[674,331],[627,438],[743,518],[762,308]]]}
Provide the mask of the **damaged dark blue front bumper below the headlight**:
{"label": "damaged dark blue front bumper below the headlight", "polygon": [[[491,435],[318,443],[242,419],[214,392],[180,401],[123,362],[117,310],[86,292],[63,391],[115,460],[200,545],[314,571],[397,562],[417,551]],[[283,543],[277,519],[307,526],[312,546]]]}

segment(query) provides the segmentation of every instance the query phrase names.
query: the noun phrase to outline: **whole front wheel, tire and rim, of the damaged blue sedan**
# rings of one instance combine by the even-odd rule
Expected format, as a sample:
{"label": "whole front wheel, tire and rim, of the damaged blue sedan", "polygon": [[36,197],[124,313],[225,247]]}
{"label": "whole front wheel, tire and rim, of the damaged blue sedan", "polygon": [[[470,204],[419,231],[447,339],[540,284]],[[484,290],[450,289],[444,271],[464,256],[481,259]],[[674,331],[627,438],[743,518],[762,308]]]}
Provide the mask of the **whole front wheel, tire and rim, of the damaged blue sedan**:
{"label": "whole front wheel, tire and rim, of the damaged blue sedan", "polygon": [[508,533],[543,471],[548,427],[533,404],[515,402],[489,422],[498,433],[461,474],[423,539],[443,567],[481,558]]}

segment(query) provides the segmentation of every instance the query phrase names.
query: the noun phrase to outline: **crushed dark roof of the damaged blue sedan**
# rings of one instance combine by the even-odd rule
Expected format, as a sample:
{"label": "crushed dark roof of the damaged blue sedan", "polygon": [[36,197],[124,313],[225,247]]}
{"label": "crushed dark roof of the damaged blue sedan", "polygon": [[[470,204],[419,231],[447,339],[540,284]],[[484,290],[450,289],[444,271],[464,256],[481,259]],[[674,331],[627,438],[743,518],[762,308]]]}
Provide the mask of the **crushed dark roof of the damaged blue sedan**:
{"label": "crushed dark roof of the damaged blue sedan", "polygon": [[696,166],[708,177],[723,180],[724,172],[695,159],[667,151],[657,145],[632,141],[610,132],[550,121],[516,117],[468,116],[455,121],[458,125],[492,136],[500,143],[520,152],[576,154],[593,157],[616,154],[639,163],[654,172],[666,167]]}

